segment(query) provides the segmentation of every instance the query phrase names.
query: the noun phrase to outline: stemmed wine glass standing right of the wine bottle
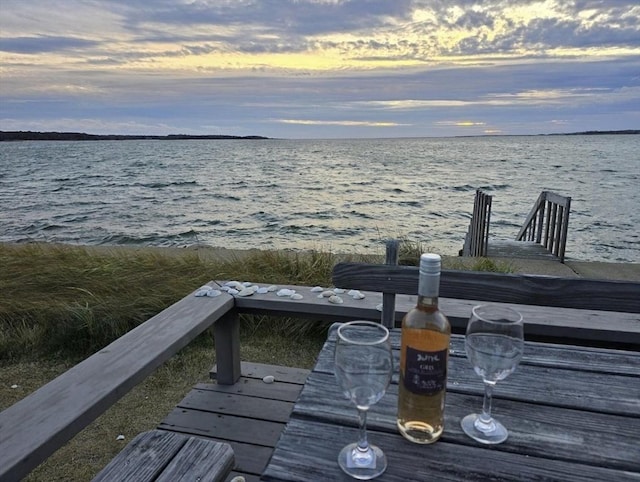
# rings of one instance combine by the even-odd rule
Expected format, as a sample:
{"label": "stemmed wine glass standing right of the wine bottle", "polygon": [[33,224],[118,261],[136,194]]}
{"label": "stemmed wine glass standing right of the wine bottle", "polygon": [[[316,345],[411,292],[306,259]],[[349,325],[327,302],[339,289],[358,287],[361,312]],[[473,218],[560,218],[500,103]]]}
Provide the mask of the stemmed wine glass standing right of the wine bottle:
{"label": "stemmed wine glass standing right of the wine bottle", "polygon": [[491,417],[491,395],[498,380],[504,380],[520,363],[524,351],[522,315],[500,305],[478,305],[472,310],[465,350],[474,371],[484,381],[482,413],[462,419],[462,430],[483,444],[499,444],[509,436],[500,422]]}

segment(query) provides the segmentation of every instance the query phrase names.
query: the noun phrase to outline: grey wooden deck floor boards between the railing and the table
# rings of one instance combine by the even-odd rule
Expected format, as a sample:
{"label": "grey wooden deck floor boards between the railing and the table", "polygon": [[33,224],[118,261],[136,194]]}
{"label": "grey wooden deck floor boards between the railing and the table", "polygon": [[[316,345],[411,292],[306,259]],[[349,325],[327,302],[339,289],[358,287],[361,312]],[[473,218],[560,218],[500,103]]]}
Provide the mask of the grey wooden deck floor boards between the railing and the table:
{"label": "grey wooden deck floor boards between the railing and the table", "polygon": [[[227,480],[242,475],[260,480],[286,425],[309,370],[242,363],[234,385],[202,383],[158,425],[159,429],[227,442],[236,467]],[[215,377],[215,367],[212,377]],[[273,375],[274,383],[263,377]]]}

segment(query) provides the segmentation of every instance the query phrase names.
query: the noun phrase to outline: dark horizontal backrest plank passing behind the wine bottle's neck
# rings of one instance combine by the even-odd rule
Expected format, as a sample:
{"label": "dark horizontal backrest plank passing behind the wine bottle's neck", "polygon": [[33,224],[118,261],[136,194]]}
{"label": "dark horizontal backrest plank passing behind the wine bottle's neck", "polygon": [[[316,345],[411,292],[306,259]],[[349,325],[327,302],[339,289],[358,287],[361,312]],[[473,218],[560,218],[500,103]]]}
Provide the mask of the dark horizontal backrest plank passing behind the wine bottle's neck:
{"label": "dark horizontal backrest plank passing behind the wine bottle's neck", "polygon": [[[418,268],[338,263],[333,283],[342,288],[418,292]],[[440,296],[540,306],[640,313],[640,283],[443,270]]]}

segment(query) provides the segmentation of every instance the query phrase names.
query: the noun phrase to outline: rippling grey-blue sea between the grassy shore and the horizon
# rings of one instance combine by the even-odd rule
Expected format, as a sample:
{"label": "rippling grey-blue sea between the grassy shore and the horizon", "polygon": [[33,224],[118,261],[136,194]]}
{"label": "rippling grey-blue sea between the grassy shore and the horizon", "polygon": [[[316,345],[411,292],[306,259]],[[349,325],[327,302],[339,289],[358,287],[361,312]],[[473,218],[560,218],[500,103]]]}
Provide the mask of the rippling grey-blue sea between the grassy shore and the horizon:
{"label": "rippling grey-blue sea between the grassy shore and the horizon", "polygon": [[0,143],[0,242],[457,255],[476,189],[515,239],[570,196],[567,259],[640,262],[640,135]]}

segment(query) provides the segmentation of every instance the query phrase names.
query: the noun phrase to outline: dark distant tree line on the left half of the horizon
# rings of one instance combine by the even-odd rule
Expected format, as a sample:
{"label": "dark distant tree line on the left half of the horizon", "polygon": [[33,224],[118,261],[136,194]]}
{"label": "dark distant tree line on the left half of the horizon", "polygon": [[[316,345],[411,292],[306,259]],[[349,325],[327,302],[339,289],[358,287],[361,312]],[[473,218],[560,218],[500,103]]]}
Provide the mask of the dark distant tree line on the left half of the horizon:
{"label": "dark distant tree line on the left half of the horizon", "polygon": [[179,140],[179,139],[268,139],[263,136],[227,136],[203,135],[191,136],[187,134],[171,134],[168,136],[146,135],[98,135],[83,132],[31,132],[31,131],[0,131],[0,141],[124,141],[124,140]]}

